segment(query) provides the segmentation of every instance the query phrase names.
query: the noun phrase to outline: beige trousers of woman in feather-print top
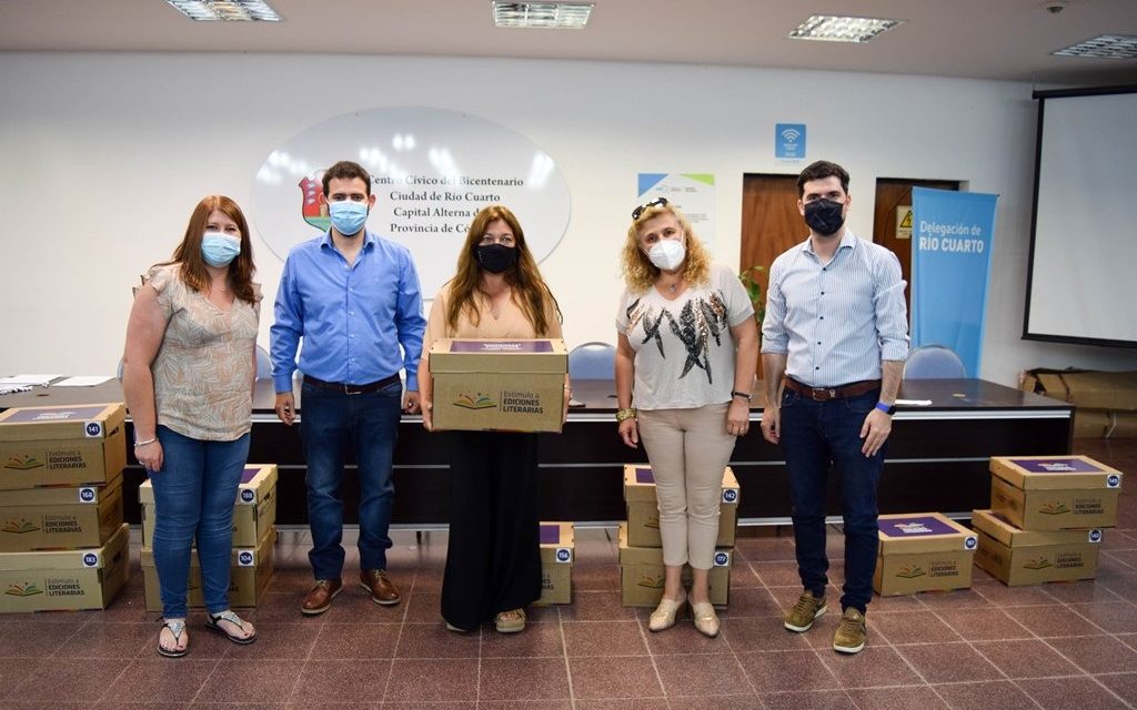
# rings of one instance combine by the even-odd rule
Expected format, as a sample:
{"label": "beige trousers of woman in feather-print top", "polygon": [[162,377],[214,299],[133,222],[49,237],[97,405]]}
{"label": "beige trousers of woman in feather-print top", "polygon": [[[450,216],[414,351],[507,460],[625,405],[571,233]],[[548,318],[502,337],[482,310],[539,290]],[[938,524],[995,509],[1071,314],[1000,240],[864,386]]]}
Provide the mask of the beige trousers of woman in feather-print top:
{"label": "beige trousers of woman in feather-print top", "polygon": [[655,476],[663,563],[711,569],[719,537],[722,470],[735,451],[729,402],[640,410],[637,424]]}

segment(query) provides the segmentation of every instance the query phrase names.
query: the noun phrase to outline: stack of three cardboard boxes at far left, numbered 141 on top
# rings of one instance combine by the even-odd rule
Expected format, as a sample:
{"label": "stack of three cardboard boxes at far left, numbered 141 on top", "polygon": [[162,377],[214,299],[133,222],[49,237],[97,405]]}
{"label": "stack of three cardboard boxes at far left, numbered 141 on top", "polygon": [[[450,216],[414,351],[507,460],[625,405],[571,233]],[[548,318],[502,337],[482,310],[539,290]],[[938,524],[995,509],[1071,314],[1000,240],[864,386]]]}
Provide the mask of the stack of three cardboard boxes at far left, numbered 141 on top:
{"label": "stack of three cardboard boxes at far left, numbered 141 on top", "polygon": [[105,609],[130,575],[122,403],[0,414],[0,612]]}

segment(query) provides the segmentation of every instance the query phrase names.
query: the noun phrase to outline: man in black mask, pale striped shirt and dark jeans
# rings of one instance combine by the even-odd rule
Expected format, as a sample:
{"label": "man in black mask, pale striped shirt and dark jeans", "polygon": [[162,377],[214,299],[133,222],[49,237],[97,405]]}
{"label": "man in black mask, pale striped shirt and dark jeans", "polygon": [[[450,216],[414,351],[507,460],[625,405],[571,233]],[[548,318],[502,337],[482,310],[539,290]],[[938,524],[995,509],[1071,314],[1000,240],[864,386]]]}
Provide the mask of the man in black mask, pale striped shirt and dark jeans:
{"label": "man in black mask, pale striped shirt and dark jeans", "polygon": [[783,625],[806,632],[825,612],[825,490],[841,479],[845,585],[833,650],[864,648],[877,567],[877,485],[908,352],[896,254],[846,226],[852,198],[841,166],[819,160],[798,176],[810,237],[770,269],[762,325],[766,407],[762,434],[786,453],[804,593]]}

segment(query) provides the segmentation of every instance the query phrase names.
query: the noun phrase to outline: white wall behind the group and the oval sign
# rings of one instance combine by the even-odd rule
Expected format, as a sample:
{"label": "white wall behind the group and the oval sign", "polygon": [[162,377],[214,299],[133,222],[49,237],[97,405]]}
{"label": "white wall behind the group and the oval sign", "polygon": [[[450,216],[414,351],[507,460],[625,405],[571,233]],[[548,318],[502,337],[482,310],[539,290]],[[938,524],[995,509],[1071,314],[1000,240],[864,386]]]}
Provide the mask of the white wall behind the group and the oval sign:
{"label": "white wall behind the group and the oval sign", "polygon": [[[999,193],[981,376],[1137,367],[1134,354],[1021,341],[1035,105],[1027,84],[731,67],[354,56],[0,55],[0,375],[111,373],[130,287],[208,193],[248,207],[268,153],[362,108],[475,114],[559,164],[568,232],[541,265],[570,344],[612,342],[619,244],[639,172],[713,173],[717,257],[738,265],[745,173],[796,174],[773,125],[808,125],[808,158],[853,175],[872,231],[878,177]],[[860,200],[860,201],[857,201]],[[804,228],[803,228],[804,234]],[[271,298],[281,262],[255,237]],[[449,261],[453,254],[439,254]]]}

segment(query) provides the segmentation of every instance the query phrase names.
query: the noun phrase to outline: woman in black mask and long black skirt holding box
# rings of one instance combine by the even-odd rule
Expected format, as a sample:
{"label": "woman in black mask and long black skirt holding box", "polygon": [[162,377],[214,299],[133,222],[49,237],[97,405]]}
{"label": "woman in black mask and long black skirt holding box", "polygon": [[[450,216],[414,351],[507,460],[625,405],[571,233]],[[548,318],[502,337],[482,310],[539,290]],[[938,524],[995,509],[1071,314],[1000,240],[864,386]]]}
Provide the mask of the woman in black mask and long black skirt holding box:
{"label": "woman in black mask and long black skirt holding box", "polygon": [[[474,217],[458,272],[434,298],[420,365],[423,426],[434,431],[428,353],[441,337],[561,337],[561,310],[537,270],[512,211],[491,204]],[[426,375],[422,375],[425,373]],[[565,378],[565,410],[570,398]],[[453,432],[450,537],[442,580],[442,618],[450,630],[484,621],[525,628],[541,595],[537,517],[537,434]]]}

